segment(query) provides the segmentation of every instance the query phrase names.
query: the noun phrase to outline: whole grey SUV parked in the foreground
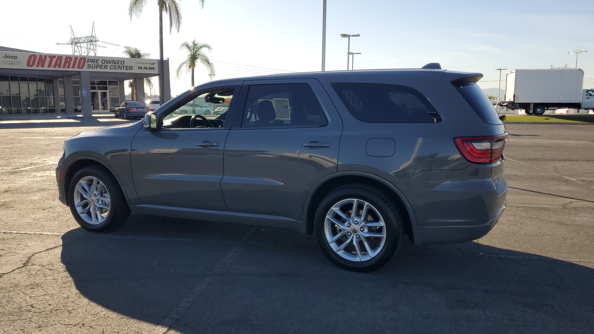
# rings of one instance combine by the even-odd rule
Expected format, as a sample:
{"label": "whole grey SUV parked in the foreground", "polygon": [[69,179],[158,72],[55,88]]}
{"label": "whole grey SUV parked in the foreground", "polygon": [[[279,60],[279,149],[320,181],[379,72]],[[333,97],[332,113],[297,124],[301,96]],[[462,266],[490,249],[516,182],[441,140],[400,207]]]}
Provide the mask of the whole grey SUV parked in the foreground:
{"label": "whole grey SUV parked in the foreground", "polygon": [[[59,199],[89,231],[129,214],[315,234],[337,266],[487,234],[505,209],[505,127],[476,84],[432,68],[212,81],[143,121],[64,143]],[[197,103],[219,116],[181,111]]]}

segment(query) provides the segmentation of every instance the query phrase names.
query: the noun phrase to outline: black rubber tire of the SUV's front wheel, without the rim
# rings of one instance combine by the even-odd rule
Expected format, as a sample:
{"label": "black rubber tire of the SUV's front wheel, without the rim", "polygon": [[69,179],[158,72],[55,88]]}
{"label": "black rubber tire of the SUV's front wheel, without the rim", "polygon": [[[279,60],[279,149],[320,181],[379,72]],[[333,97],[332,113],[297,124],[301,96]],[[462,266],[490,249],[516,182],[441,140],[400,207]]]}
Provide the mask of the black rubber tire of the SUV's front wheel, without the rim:
{"label": "black rubber tire of the SUV's front wheel, without the rim", "polygon": [[[99,179],[99,181],[103,183],[109,193],[109,213],[102,223],[98,223],[96,225],[88,223],[83,218],[81,218],[81,215],[77,212],[75,207],[74,191],[78,185],[78,182],[84,177],[94,177]],[[128,203],[126,202],[124,193],[122,193],[122,190],[119,187],[118,181],[116,181],[116,179],[113,178],[113,175],[102,166],[87,166],[77,171],[70,179],[67,196],[72,216],[74,216],[74,219],[77,221],[78,225],[87,231],[113,231],[119,226],[122,226],[128,220],[130,215]],[[87,216],[90,215],[87,214]]]}

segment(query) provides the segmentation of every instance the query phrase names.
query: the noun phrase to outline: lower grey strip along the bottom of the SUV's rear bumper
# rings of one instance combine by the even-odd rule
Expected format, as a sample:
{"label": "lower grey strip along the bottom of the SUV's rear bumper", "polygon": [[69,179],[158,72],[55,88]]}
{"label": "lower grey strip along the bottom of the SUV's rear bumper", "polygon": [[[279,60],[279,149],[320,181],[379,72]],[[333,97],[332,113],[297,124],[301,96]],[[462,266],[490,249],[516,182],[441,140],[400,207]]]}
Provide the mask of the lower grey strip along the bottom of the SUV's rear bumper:
{"label": "lower grey strip along the bottom of the SUV's rear bumper", "polygon": [[481,225],[412,226],[415,245],[456,244],[484,237],[505,210],[506,202],[488,222]]}

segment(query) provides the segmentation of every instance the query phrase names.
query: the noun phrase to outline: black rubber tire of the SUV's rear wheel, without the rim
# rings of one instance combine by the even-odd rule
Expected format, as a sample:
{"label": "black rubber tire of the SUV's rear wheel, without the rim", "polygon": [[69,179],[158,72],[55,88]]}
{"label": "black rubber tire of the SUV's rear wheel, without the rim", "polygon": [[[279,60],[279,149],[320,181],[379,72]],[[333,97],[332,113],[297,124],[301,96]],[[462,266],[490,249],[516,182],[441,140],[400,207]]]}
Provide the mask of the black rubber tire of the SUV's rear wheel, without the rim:
{"label": "black rubber tire of the SUV's rear wheel, without the rim", "polygon": [[[363,200],[377,209],[386,226],[386,242],[375,257],[365,261],[350,261],[339,256],[326,239],[324,223],[326,215],[334,204],[347,198]],[[396,203],[383,191],[366,184],[349,184],[331,191],[321,201],[315,212],[314,232],[322,253],[337,266],[354,272],[371,272],[380,269],[390,261],[403,240],[403,220]],[[357,241],[359,242],[359,241]],[[346,248],[345,248],[346,249]]]}

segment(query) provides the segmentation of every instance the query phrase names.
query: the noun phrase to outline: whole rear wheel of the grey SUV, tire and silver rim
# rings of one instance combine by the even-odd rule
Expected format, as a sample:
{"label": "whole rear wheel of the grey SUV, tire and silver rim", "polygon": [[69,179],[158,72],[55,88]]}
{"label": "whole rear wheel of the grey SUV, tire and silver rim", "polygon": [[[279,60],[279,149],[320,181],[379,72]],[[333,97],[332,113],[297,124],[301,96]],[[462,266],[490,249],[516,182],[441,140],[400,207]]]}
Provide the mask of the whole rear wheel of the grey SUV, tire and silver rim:
{"label": "whole rear wheel of the grey SUV, tire and silver rim", "polygon": [[345,185],[324,197],[314,231],[328,260],[355,272],[386,265],[403,239],[402,216],[394,201],[365,184]]}

